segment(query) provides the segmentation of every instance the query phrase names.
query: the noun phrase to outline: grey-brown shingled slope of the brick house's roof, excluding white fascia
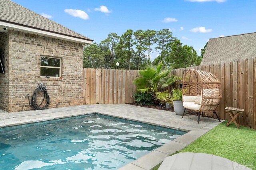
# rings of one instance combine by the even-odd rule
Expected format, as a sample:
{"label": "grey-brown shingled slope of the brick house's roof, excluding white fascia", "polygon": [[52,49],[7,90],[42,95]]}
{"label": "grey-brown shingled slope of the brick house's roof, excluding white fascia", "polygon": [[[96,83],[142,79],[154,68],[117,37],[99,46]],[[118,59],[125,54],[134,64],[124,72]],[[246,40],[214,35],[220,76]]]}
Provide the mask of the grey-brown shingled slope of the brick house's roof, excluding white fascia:
{"label": "grey-brown shingled slope of the brick house's roof, excluding white fascia", "polygon": [[10,0],[0,0],[0,21],[93,41]]}

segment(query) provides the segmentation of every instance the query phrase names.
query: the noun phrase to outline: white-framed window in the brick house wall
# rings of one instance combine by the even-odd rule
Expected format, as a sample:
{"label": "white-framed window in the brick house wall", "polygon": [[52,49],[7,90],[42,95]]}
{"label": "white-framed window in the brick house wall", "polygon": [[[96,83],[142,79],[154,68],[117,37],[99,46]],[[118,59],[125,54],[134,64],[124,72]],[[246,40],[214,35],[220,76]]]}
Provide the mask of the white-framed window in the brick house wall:
{"label": "white-framed window in the brick house wall", "polygon": [[41,57],[40,76],[61,77],[61,59]]}

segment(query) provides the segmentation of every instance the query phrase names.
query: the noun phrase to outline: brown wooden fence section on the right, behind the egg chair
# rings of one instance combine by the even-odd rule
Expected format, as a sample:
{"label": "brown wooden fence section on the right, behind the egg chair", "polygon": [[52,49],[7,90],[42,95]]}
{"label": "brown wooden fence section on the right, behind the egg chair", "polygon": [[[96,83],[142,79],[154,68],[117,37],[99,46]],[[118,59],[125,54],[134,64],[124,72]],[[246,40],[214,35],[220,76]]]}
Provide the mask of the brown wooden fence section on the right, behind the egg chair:
{"label": "brown wooden fence section on the right, behind the egg chair", "polygon": [[217,111],[220,119],[230,120],[225,107],[241,108],[244,112],[238,116],[240,125],[256,129],[256,58],[180,68],[172,70],[172,74],[182,77],[190,69],[208,71],[219,78],[222,99]]}

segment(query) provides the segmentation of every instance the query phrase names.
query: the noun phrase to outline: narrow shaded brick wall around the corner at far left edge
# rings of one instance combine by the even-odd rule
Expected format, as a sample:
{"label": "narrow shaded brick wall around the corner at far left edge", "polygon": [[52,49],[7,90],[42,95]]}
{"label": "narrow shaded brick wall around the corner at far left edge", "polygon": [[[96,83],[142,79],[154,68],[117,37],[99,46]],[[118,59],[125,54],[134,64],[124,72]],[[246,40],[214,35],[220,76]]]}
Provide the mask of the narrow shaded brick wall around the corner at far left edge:
{"label": "narrow shaded brick wall around the corner at far left edge", "polygon": [[[9,95],[8,95],[8,33],[0,32],[0,57],[4,64],[5,73],[0,73],[0,109],[8,111]],[[1,68],[2,69],[2,68]]]}

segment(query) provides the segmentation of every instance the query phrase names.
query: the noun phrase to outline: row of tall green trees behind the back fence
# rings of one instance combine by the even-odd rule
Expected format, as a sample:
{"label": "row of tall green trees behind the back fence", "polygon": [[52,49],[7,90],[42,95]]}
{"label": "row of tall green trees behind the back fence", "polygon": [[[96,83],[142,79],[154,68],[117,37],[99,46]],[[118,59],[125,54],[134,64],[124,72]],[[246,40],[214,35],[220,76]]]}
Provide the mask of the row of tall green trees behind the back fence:
{"label": "row of tall green trees behind the back fence", "polygon": [[[116,68],[117,62],[119,68],[129,70],[140,70],[147,64],[161,62],[174,69],[196,66],[201,63],[206,46],[207,43],[198,56],[193,47],[182,45],[169,29],[139,29],[135,32],[128,29],[121,36],[110,33],[99,44],[84,47],[84,68]],[[158,51],[159,56],[150,61],[153,50]]]}

